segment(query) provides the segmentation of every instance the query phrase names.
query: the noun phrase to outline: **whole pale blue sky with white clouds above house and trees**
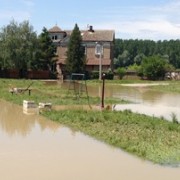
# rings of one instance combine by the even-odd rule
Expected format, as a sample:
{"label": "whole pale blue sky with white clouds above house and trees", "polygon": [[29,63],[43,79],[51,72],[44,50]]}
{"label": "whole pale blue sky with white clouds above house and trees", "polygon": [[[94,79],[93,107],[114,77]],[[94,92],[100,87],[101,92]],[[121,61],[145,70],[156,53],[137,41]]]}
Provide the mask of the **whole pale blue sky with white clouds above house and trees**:
{"label": "whole pale blue sky with white clouds above house and trees", "polygon": [[0,0],[0,28],[28,20],[38,34],[58,25],[115,31],[120,39],[180,38],[180,0]]}

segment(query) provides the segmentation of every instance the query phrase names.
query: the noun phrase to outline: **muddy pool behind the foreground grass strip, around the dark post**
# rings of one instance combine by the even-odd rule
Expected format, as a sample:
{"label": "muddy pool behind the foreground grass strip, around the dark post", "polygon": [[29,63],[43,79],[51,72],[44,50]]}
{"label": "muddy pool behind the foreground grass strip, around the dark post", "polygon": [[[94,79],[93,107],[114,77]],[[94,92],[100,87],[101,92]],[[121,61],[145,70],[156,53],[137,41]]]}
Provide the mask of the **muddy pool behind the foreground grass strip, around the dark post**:
{"label": "muddy pool behind the foreground grass strip, around the dark post", "polygon": [[[99,90],[97,90],[99,88]],[[89,86],[89,93],[93,96],[101,95],[101,86]],[[100,96],[101,97],[101,96]],[[114,97],[132,102],[127,105],[116,105],[115,110],[129,109],[150,116],[163,117],[172,120],[172,114],[180,122],[180,94],[163,93],[150,90],[147,86],[106,85],[105,98]]]}

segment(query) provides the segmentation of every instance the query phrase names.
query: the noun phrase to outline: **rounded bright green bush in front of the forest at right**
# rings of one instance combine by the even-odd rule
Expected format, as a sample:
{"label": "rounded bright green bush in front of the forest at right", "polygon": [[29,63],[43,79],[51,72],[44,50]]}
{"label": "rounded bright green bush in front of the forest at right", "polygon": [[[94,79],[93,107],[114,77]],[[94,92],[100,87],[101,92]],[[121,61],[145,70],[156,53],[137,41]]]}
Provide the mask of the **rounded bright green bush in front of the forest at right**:
{"label": "rounded bright green bush in front of the forest at right", "polygon": [[143,76],[150,80],[164,79],[167,62],[159,56],[151,56],[143,59],[141,70]]}

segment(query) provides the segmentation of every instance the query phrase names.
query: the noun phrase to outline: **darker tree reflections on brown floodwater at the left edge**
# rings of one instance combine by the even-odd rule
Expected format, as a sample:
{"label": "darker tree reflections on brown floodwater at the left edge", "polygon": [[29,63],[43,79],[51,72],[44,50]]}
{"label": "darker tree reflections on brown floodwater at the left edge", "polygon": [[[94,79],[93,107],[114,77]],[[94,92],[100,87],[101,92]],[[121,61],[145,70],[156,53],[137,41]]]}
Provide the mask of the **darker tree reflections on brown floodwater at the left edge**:
{"label": "darker tree reflections on brown floodwater at the left edge", "polygon": [[0,129],[9,135],[20,134],[26,136],[38,123],[40,128],[50,128],[55,131],[59,128],[57,123],[44,121],[41,116],[24,115],[23,108],[17,107],[11,103],[0,101]]}

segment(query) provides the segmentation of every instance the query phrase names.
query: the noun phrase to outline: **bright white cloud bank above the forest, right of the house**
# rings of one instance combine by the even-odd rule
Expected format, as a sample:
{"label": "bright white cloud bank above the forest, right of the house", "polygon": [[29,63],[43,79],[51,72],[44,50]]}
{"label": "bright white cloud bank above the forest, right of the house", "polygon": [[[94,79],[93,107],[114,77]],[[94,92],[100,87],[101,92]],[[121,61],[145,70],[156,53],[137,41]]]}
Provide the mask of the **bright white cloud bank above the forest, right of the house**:
{"label": "bright white cloud bank above the forest, right of the house", "polygon": [[100,29],[115,29],[116,37],[123,39],[178,39],[179,9],[180,0],[169,1],[156,7],[111,7],[101,12],[102,18],[105,16],[106,20],[97,21],[94,26]]}

